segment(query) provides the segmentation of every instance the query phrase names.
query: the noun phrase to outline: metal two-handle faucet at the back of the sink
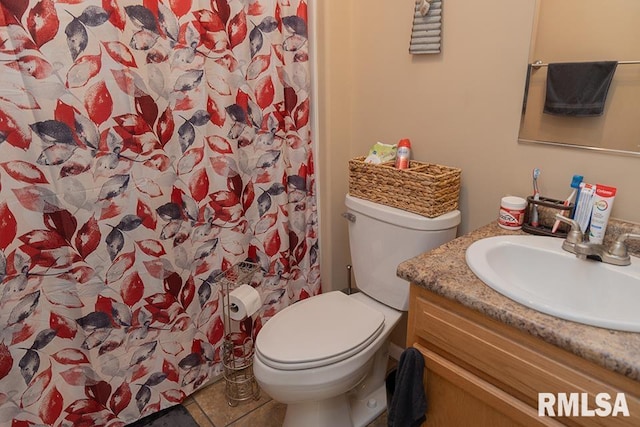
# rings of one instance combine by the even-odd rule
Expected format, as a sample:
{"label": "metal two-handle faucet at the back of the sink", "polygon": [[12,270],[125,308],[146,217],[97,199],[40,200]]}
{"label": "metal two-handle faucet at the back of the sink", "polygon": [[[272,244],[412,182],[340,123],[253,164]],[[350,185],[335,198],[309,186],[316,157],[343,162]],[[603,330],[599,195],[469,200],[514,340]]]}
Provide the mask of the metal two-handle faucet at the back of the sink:
{"label": "metal two-handle faucet at the back of the sink", "polygon": [[631,264],[631,257],[629,256],[625,241],[627,239],[640,239],[640,234],[623,233],[611,244],[610,248],[607,248],[599,243],[585,241],[584,234],[578,222],[560,214],[556,214],[556,219],[571,226],[566,240],[562,242],[562,249],[565,251],[576,254],[580,259],[589,257],[607,264],[621,266]]}

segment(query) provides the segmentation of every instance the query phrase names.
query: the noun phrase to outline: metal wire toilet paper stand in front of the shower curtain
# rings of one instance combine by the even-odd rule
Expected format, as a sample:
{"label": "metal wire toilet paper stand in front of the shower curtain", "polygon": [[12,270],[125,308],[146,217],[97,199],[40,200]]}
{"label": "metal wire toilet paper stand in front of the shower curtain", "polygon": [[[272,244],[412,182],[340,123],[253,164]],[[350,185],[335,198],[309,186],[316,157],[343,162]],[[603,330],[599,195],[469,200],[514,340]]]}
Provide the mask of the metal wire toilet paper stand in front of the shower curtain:
{"label": "metal wire toilet paper stand in front of the shower curtain", "polygon": [[[222,365],[224,367],[225,395],[229,406],[250,399],[260,398],[260,387],[253,374],[253,338],[245,338],[242,342],[233,339],[231,313],[234,304],[229,301],[229,293],[241,284],[251,283],[258,265],[250,262],[239,262],[218,274],[214,282],[220,283],[224,297],[224,341],[222,343]],[[237,310],[237,307],[235,307]]]}

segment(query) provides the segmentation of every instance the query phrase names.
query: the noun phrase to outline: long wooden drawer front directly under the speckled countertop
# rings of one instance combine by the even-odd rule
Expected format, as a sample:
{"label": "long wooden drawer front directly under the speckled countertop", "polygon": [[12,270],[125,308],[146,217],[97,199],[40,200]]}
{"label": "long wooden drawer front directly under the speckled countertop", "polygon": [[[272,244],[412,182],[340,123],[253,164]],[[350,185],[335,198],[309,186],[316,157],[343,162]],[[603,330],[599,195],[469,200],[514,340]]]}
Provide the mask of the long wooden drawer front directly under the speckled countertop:
{"label": "long wooden drawer front directly under the speckled countertop", "polygon": [[[554,393],[556,396],[558,393],[586,392],[590,395],[590,408],[594,407],[598,393],[608,393],[615,399],[618,392],[626,392],[629,412],[637,421],[636,417],[640,416],[640,387],[632,384],[629,390],[619,390],[594,377],[591,372],[576,369],[576,366],[585,365],[585,361],[577,356],[561,349],[551,353],[541,352],[538,348],[549,346],[547,343],[515,330],[507,336],[500,328],[494,328],[489,319],[480,322],[480,315],[473,313],[467,316],[465,310],[468,309],[460,307],[454,312],[428,300],[424,295],[417,296],[410,309],[412,318],[409,323],[413,326],[410,337],[413,333],[414,338],[420,338],[418,342],[425,347],[455,360],[465,369],[536,410],[539,392]],[[505,325],[500,326],[506,328]],[[622,416],[580,417],[577,420],[580,425],[606,426],[630,425],[631,421]],[[565,421],[572,424],[570,419]]]}

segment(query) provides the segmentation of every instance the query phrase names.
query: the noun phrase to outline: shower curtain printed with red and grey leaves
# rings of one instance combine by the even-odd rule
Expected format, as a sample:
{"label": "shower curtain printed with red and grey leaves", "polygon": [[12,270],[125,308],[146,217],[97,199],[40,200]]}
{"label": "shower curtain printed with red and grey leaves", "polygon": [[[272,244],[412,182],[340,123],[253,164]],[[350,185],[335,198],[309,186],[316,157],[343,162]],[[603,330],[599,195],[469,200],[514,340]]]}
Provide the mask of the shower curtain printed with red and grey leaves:
{"label": "shower curtain printed with red and grey leaves", "polygon": [[0,425],[122,426],[320,292],[307,4],[0,5]]}

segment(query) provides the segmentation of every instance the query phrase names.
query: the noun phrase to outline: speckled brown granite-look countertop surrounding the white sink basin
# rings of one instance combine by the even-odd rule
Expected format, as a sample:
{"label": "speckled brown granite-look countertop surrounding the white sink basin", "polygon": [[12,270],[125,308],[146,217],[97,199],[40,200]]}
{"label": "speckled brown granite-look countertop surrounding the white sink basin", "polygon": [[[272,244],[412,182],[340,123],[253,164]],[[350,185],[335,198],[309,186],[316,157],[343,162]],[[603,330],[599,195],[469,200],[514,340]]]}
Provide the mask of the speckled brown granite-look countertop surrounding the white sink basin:
{"label": "speckled brown granite-look countertop surrounding the white sink basin", "polygon": [[603,329],[549,316],[501,295],[473,274],[465,261],[469,245],[486,237],[507,234],[525,233],[504,230],[497,223],[491,223],[401,263],[397,274],[438,295],[640,381],[640,333]]}

